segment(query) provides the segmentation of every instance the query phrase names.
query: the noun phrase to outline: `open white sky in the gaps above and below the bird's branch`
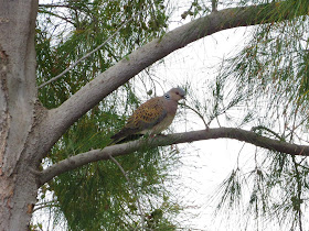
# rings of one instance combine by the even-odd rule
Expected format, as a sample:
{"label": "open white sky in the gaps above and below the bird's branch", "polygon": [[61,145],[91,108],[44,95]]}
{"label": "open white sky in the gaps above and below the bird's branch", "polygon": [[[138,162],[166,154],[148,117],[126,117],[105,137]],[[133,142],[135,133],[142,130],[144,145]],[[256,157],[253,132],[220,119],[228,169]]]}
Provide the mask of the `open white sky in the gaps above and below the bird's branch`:
{"label": "open white sky in the gaps above and below the bird's branch", "polygon": [[[171,30],[181,25],[178,21],[180,14],[187,9],[180,8],[179,12],[175,13],[174,22],[170,26]],[[252,29],[253,26],[225,30],[196,41],[164,58],[164,64],[158,66],[156,74],[168,79],[166,90],[177,85],[185,85],[189,81],[192,82],[192,89],[195,90],[195,94],[202,98],[204,95],[201,88],[214,79],[223,59],[235,55],[244,47],[244,44],[249,41]],[[226,125],[226,121],[221,119],[220,122],[221,125]],[[211,124],[211,128],[215,127],[217,124]],[[187,117],[185,122],[183,118],[177,118],[173,128],[177,128],[178,132],[183,132],[201,130],[204,129],[204,125],[198,117]],[[196,216],[192,219],[184,213],[181,217],[187,220],[184,226],[190,224],[189,227],[193,229],[207,231],[257,230],[254,220],[247,221],[246,227],[241,227],[238,222],[238,219],[243,218],[241,215],[232,216],[234,222],[230,222],[228,227],[226,220],[213,216],[214,204],[210,204],[215,189],[236,166],[239,153],[241,165],[245,163],[252,165],[256,147],[251,144],[243,145],[243,142],[227,139],[178,145],[183,155],[181,161],[188,167],[175,173],[180,176],[179,182],[175,180],[174,184],[178,186],[175,190],[182,193],[183,201],[189,201],[190,208],[187,212]],[[182,187],[181,184],[188,188]],[[276,222],[264,226],[263,222],[259,223],[258,230],[278,230]]]}

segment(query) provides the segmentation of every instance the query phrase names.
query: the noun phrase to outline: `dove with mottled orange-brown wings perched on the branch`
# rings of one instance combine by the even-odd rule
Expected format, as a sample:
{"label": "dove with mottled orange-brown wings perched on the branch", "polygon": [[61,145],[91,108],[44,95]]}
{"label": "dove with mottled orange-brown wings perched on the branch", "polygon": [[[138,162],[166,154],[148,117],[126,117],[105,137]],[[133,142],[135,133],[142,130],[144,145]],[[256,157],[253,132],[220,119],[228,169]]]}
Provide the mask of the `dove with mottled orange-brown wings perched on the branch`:
{"label": "dove with mottled orange-brown wings perched on the branch", "polygon": [[110,138],[109,145],[117,144],[131,135],[160,134],[172,123],[178,101],[181,99],[185,99],[185,91],[178,87],[170,89],[161,97],[143,102],[129,117],[125,127]]}

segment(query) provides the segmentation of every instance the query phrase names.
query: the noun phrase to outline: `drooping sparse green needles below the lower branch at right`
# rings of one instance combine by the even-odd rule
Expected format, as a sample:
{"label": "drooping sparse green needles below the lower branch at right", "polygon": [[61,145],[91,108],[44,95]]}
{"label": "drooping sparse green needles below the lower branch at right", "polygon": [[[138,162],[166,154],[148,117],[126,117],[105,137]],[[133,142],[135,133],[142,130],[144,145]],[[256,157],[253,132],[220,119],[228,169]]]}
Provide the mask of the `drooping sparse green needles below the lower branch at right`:
{"label": "drooping sparse green needles below the lower branch at right", "polygon": [[[223,182],[214,198],[217,215],[238,213],[245,220],[276,222],[295,230],[301,226],[308,188],[308,164],[283,153],[259,154],[247,172],[236,168]],[[284,229],[286,230],[286,229]]]}

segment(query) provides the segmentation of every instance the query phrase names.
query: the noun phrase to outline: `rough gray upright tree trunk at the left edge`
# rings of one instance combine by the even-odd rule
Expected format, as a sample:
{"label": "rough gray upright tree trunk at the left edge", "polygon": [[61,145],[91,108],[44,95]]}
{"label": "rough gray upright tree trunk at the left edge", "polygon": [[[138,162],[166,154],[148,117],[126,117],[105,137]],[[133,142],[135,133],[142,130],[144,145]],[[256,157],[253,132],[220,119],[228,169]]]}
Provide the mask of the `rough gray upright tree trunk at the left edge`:
{"label": "rough gray upright tree trunk at the left edge", "polygon": [[0,230],[28,230],[38,184],[34,29],[38,0],[0,0]]}

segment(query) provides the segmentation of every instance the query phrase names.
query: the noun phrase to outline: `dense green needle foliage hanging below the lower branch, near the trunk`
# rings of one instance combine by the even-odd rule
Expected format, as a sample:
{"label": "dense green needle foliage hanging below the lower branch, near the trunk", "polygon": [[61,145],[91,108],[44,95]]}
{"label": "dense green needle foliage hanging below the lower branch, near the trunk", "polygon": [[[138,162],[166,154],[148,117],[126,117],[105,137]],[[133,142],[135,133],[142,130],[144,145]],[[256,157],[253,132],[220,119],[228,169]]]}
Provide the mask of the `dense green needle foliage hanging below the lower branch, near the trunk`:
{"label": "dense green needle foliage hanging below the lower branch, near the trunk", "polygon": [[[168,165],[174,164],[175,158],[162,158],[158,150],[143,150],[118,157],[137,195],[111,162],[97,162],[63,174],[50,183],[50,189],[55,191],[71,230],[99,230],[103,227],[108,230],[130,230],[140,226],[136,197],[142,201],[146,211],[164,206],[168,212],[170,201],[163,201],[162,198],[169,193],[161,183],[168,174]],[[171,212],[168,213],[153,216],[158,222],[156,226],[172,226],[167,220]],[[162,219],[166,221],[162,222]]]}

